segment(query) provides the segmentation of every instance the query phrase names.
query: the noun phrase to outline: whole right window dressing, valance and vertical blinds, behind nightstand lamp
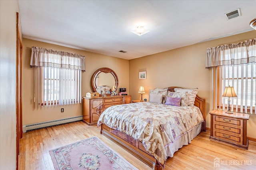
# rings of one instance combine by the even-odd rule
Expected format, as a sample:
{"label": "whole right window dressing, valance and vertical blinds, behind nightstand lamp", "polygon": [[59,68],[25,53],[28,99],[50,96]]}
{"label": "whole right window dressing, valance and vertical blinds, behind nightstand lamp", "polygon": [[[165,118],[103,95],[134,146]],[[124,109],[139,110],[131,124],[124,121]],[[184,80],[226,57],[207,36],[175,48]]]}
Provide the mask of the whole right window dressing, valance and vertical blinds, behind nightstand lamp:
{"label": "whole right window dressing, valance and vertical blinds, behind nightstand lamp", "polygon": [[[238,98],[231,98],[232,111],[255,113],[256,39],[208,48],[206,68],[212,69],[214,109],[225,109],[225,86],[234,86]],[[234,110],[235,108],[235,110]]]}

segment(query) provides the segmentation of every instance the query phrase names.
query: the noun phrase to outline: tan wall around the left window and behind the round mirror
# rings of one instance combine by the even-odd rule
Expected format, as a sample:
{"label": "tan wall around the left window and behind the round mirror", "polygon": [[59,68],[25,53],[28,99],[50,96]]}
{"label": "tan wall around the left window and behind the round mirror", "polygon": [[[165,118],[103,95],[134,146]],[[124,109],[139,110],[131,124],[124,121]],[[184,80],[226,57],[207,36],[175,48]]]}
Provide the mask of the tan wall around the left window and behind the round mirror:
{"label": "tan wall around the left window and behind the round mirror", "polygon": [[[119,87],[127,87],[129,92],[129,61],[116,57],[110,57],[88,51],[72,49],[60,45],[43,43],[31,39],[23,39],[23,75],[22,94],[23,94],[23,125],[75,117],[82,115],[82,104],[51,106],[36,109],[34,106],[34,68],[30,68],[31,47],[43,47],[57,51],[68,51],[85,56],[86,71],[82,72],[82,96],[87,92],[92,92],[91,78],[98,68],[108,67],[114,70],[119,79]],[[114,84],[113,84],[114,85]],[[60,112],[64,108],[64,113]]]}

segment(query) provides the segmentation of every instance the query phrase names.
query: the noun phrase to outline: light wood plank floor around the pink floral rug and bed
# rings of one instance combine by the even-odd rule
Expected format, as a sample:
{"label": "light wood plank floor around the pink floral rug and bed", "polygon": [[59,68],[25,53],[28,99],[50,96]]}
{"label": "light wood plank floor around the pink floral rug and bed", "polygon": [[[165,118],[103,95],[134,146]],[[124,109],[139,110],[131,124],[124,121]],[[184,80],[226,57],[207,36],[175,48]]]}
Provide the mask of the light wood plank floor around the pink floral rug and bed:
{"label": "light wood plank floor around the pink floral rug and bed", "polygon": [[[68,145],[88,137],[97,136],[106,145],[126,158],[140,170],[150,167],[100,135],[100,127],[88,126],[82,121],[68,123],[23,133],[20,141],[19,170],[54,170],[49,150]],[[249,141],[249,149],[239,149],[230,145],[211,141],[210,132],[201,132],[192,143],[182,147],[168,158],[164,170],[198,169],[252,169],[256,170],[256,142]],[[214,159],[220,167],[214,167]],[[246,165],[248,164],[248,165]]]}

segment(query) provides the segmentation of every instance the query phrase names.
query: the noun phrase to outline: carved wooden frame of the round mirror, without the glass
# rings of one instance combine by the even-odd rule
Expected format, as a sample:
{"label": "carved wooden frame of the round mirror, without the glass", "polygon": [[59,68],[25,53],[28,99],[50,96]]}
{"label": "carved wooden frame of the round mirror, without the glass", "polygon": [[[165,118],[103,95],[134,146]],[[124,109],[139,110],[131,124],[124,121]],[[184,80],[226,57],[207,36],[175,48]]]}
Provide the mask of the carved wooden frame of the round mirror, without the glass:
{"label": "carved wooden frame of the round mirror, without the glass", "polygon": [[93,76],[92,76],[92,88],[94,90],[94,92],[96,92],[96,78],[97,76],[101,73],[101,72],[104,72],[104,73],[110,73],[113,75],[114,79],[115,79],[115,91],[117,90],[118,88],[118,77],[116,75],[116,72],[114,72],[114,70],[112,70],[111,68],[108,68],[108,67],[102,67],[102,68],[99,68],[98,70],[96,70],[96,72],[94,72]]}

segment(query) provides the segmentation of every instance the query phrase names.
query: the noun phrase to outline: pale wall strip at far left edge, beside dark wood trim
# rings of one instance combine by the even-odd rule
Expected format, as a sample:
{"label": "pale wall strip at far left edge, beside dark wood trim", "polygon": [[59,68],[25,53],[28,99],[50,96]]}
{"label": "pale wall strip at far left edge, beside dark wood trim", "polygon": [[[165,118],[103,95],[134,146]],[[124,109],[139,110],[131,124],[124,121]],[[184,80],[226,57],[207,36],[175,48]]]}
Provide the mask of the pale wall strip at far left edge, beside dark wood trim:
{"label": "pale wall strip at far left edge, beside dark wood trim", "polygon": [[0,0],[0,169],[16,169],[17,0]]}

